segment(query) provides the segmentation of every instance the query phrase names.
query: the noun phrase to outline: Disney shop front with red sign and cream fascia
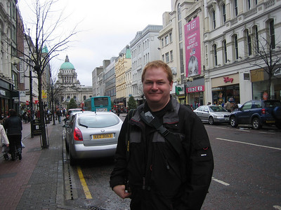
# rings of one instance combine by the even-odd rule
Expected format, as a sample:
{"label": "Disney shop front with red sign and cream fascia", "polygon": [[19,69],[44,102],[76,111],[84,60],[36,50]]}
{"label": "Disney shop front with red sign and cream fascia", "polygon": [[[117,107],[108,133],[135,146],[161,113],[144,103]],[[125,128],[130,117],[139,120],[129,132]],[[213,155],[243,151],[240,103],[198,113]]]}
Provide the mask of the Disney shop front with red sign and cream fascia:
{"label": "Disney shop front with red sign and cream fascia", "polygon": [[239,73],[211,79],[212,104],[223,105],[233,98],[240,104]]}

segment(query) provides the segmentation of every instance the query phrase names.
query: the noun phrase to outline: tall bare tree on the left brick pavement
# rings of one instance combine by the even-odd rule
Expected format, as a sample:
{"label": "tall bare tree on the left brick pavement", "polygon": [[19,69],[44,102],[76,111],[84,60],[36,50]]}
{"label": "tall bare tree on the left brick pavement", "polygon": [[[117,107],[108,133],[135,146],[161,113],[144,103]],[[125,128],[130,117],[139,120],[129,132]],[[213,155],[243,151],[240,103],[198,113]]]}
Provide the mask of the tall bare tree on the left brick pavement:
{"label": "tall bare tree on the left brick pavement", "polygon": [[[42,134],[42,148],[48,148],[48,142],[46,138],[46,128],[44,121],[44,106],[42,103],[42,76],[46,69],[48,69],[49,62],[54,57],[58,56],[58,53],[67,49],[70,44],[70,38],[77,34],[76,27],[72,29],[68,34],[59,34],[58,28],[63,24],[63,12],[60,11],[58,18],[54,21],[51,18],[51,14],[55,11],[52,8],[55,6],[55,0],[34,0],[32,12],[34,13],[34,22],[31,22],[28,26],[32,25],[34,31],[26,31],[29,29],[27,25],[24,27],[24,38],[27,40],[27,45],[30,52],[24,53],[24,62],[29,60],[32,64],[34,73],[38,78],[38,91],[39,91],[39,112],[41,121],[41,134]],[[30,43],[28,40],[32,40]],[[48,48],[48,50],[44,50]],[[19,57],[19,59],[22,59]]]}

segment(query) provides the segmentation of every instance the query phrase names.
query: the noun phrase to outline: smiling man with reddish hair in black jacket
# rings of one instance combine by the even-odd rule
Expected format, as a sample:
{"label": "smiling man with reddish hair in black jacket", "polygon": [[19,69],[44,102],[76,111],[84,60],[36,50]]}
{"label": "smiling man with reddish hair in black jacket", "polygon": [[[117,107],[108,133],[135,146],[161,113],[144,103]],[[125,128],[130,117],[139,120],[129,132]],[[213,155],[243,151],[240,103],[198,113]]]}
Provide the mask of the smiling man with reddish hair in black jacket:
{"label": "smiling man with reddish hair in black jacket", "polygon": [[148,63],[142,82],[146,102],[124,120],[110,187],[131,198],[132,210],[200,209],[214,169],[204,125],[170,96],[173,76],[167,64]]}

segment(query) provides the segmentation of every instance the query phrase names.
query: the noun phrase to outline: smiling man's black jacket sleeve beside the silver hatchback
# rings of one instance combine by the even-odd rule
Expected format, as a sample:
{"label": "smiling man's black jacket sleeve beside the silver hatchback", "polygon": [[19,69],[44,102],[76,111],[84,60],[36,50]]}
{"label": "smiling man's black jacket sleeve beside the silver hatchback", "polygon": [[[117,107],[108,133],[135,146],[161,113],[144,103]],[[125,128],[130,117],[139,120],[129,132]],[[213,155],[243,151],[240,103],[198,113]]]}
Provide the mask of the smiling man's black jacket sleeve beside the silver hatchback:
{"label": "smiling man's black jacket sleeve beside the silver hatchback", "polygon": [[110,188],[114,188],[118,185],[124,185],[126,179],[126,130],[128,126],[128,116],[126,116],[124,123],[122,125],[117,150],[115,153],[115,167],[110,175]]}

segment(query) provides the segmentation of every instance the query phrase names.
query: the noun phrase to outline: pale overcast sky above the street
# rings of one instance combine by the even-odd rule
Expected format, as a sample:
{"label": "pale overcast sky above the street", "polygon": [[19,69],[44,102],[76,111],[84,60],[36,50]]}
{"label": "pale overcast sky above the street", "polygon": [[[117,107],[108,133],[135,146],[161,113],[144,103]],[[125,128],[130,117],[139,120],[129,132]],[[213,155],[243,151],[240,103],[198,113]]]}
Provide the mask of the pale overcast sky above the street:
{"label": "pale overcast sky above the street", "polygon": [[[18,1],[27,27],[32,22],[30,8],[34,1]],[[63,10],[63,17],[67,17],[58,30],[67,34],[77,25],[79,33],[71,38],[71,47],[52,60],[52,72],[60,69],[68,55],[81,85],[91,86],[91,72],[102,66],[104,59],[118,56],[147,25],[162,25],[162,14],[171,11],[171,0],[59,0],[54,6],[55,14]]]}

